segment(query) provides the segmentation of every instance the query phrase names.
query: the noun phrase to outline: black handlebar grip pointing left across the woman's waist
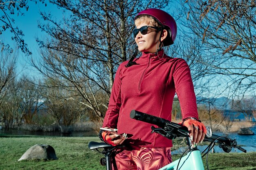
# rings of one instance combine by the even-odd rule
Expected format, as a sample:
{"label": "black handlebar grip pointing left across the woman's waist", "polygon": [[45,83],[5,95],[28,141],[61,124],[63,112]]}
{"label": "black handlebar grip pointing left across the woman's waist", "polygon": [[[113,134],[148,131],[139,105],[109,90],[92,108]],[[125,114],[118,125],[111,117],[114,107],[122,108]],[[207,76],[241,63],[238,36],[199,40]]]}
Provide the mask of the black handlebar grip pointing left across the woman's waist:
{"label": "black handlebar grip pointing left across the woman's waist", "polygon": [[144,121],[150,124],[154,124],[157,125],[161,128],[164,128],[164,126],[166,126],[166,124],[170,123],[170,121],[160,118],[160,117],[156,117],[153,115],[148,115],[146,113],[142,113],[139,112],[137,110],[132,110],[130,112],[130,118],[132,119],[136,119],[136,120],[140,120],[140,121]]}

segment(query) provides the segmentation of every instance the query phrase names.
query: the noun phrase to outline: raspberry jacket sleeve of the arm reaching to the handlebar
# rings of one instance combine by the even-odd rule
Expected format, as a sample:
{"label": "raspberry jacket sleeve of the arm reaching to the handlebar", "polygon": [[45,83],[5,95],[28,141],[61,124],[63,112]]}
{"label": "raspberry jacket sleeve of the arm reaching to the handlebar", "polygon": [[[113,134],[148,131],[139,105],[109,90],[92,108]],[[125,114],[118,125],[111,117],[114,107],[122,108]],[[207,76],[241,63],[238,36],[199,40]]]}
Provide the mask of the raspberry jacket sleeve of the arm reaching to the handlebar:
{"label": "raspberry jacket sleeve of the arm reaching to the handlebar", "polygon": [[188,64],[180,59],[175,65],[173,79],[177,96],[180,101],[182,118],[195,117],[198,119],[198,110],[194,86]]}

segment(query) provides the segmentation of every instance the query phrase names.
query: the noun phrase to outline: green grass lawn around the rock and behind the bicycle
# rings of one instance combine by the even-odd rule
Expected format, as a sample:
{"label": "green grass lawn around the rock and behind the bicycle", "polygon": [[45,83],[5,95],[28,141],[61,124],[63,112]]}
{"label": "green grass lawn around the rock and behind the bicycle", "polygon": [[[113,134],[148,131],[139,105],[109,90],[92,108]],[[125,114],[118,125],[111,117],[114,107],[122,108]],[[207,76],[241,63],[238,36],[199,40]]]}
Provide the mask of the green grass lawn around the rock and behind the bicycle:
{"label": "green grass lawn around the rock and behind the bicycle", "polygon": [[[89,150],[89,141],[98,137],[0,137],[0,170],[105,170],[99,164],[103,156]],[[58,160],[19,161],[35,144],[51,145]],[[173,160],[177,156],[173,156]],[[205,161],[204,161],[205,162]],[[210,170],[256,170],[256,152],[209,154]]]}

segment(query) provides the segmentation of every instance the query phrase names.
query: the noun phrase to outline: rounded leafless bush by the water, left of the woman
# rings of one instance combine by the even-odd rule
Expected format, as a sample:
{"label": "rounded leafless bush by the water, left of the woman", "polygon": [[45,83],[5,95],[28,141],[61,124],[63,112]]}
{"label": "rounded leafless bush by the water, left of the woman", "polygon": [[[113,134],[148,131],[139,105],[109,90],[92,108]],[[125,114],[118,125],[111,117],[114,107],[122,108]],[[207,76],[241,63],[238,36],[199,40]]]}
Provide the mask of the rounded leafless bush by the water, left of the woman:
{"label": "rounded leafless bush by the water, left of the woman", "polygon": [[44,98],[46,113],[54,117],[61,132],[71,132],[73,125],[83,117],[85,112],[81,96],[77,95],[75,90],[72,91],[71,87],[65,89],[55,86],[59,84],[56,79],[45,79],[44,82],[44,86],[41,86],[41,94]]}

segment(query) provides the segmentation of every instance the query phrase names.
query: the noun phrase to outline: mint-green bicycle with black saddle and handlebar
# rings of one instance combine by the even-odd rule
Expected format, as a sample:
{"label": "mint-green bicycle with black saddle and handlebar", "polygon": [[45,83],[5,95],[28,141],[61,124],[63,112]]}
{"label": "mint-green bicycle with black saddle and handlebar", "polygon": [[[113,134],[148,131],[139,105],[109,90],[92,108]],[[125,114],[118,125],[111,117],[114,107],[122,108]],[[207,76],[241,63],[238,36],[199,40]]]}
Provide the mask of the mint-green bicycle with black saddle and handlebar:
{"label": "mint-green bicycle with black saddle and handlebar", "polygon": [[[205,136],[204,141],[210,142],[210,144],[201,153],[197,147],[192,147],[191,139],[188,135],[189,132],[185,126],[173,123],[160,117],[148,115],[146,113],[142,113],[136,110],[131,111],[130,117],[132,119],[144,121],[158,126],[159,128],[151,126],[152,133],[159,133],[160,135],[168,139],[175,139],[176,137],[186,137],[186,144],[188,148],[183,152],[181,158],[171,162],[170,164],[164,166],[163,168],[160,168],[159,170],[204,170],[202,157],[204,157],[205,155],[207,155],[206,164],[207,170],[209,170],[208,153],[215,146],[215,144],[218,144],[218,146],[222,148],[224,152],[227,153],[230,152],[232,148],[237,148],[238,150],[241,150],[245,153],[247,152],[244,148],[241,148],[240,146],[237,145],[236,139],[230,139],[225,136],[214,135],[211,133],[210,128],[208,128],[207,135]],[[99,152],[99,148],[103,148],[104,152],[101,153],[105,154],[105,158],[107,159],[107,161],[106,164],[102,165],[106,165],[107,170],[111,170],[110,156],[112,155],[112,153],[114,153],[116,150],[122,147],[124,146],[111,146],[106,143],[98,143],[93,141],[89,143],[89,148],[91,150],[96,149]],[[188,151],[187,154],[183,156],[186,153],[186,151]]]}

